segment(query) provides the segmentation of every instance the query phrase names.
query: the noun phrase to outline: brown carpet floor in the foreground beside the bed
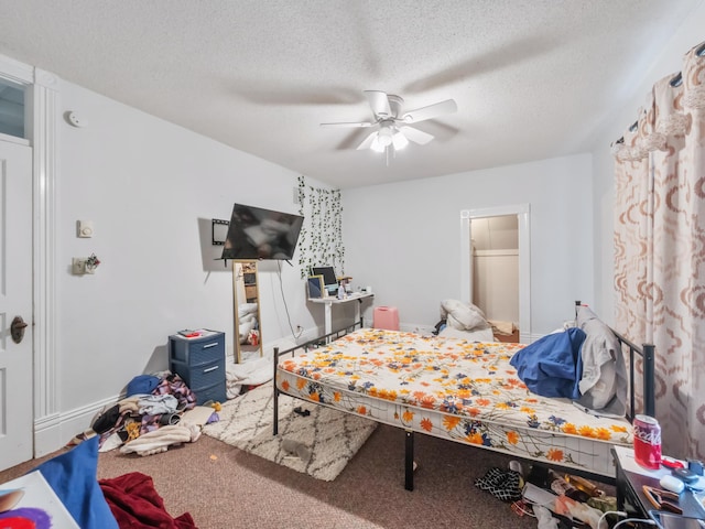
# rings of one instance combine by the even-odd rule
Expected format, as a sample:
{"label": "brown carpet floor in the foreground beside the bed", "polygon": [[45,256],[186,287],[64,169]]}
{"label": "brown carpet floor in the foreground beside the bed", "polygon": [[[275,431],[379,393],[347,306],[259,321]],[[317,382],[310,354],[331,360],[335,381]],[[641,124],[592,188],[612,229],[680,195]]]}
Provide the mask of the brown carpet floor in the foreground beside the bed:
{"label": "brown carpet floor in the foreground beside the bed", "polygon": [[[50,456],[0,472],[0,483]],[[333,482],[208,435],[147,457],[102,453],[98,477],[152,476],[169,512],[191,512],[200,529],[536,528],[535,519],[474,485],[492,466],[506,468],[509,456],[415,435],[413,492],[404,489],[403,460],[404,432],[380,424]],[[600,488],[614,494],[609,485]]]}

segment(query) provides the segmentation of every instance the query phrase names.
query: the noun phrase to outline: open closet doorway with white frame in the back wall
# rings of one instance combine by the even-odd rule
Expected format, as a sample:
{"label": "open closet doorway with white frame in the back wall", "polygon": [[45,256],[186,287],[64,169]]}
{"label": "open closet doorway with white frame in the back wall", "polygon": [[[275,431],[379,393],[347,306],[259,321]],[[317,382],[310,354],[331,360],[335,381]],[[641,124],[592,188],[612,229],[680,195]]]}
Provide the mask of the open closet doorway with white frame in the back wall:
{"label": "open closet doorway with white frame in the back wall", "polygon": [[464,209],[460,222],[463,301],[498,324],[501,339],[530,343],[529,205]]}

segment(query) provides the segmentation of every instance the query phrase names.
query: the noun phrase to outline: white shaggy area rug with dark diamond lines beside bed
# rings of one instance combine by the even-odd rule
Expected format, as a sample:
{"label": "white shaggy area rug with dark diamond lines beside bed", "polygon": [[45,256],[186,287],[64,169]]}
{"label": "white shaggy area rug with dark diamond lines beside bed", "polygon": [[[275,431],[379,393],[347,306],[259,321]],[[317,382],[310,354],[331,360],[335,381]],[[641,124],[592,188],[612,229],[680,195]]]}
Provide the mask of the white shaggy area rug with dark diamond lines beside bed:
{"label": "white shaggy area rug with dark diamond lines beside bed", "polygon": [[[301,407],[310,411],[295,413]],[[316,479],[332,482],[365,444],[377,423],[350,413],[280,395],[279,435],[272,435],[272,382],[228,400],[219,422],[203,433]]]}

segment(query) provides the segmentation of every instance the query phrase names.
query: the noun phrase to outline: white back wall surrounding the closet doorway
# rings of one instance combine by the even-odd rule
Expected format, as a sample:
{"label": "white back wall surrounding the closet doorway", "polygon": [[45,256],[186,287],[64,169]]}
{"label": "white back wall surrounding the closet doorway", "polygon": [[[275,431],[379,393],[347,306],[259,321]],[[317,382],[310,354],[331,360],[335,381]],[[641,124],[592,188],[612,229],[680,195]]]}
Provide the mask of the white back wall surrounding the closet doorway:
{"label": "white back wall surrounding the closet doorway", "polygon": [[528,203],[528,331],[553,331],[594,296],[592,172],[582,154],[346,190],[346,272],[373,285],[376,305],[397,306],[402,325],[433,326],[441,300],[462,299],[460,210]]}

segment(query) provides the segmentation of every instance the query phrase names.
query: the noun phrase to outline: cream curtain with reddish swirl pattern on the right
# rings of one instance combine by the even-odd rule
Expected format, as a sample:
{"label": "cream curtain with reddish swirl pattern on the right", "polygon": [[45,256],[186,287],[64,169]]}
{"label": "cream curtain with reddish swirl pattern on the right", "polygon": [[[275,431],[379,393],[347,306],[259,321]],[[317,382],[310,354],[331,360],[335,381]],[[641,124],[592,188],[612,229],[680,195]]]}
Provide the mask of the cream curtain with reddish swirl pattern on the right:
{"label": "cream curtain with reddish swirl pattern on the right", "polygon": [[616,324],[657,346],[663,452],[705,458],[705,43],[615,143]]}

